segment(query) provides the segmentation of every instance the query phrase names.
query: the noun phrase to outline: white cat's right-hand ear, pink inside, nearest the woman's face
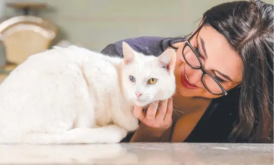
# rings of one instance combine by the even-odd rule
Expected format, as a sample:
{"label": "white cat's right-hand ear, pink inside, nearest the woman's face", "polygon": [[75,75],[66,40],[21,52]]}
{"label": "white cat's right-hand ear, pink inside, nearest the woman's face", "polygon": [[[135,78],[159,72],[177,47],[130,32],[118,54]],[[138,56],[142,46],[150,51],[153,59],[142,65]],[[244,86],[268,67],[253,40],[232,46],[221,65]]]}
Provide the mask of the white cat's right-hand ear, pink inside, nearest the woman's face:
{"label": "white cat's right-hand ear, pink inside, nearest the woman's face", "polygon": [[159,65],[161,68],[169,72],[173,72],[176,63],[176,52],[173,49],[165,50],[159,57],[158,57]]}

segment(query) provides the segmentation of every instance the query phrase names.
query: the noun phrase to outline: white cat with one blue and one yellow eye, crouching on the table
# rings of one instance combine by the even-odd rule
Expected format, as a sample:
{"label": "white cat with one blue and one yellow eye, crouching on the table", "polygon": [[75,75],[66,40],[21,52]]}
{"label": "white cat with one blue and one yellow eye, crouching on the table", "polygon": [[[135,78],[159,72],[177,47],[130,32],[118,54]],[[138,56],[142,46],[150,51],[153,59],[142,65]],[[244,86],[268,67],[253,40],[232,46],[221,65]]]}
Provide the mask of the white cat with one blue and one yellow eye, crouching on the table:
{"label": "white cat with one blue and one yellow eye, crouching on the table", "polygon": [[133,105],[175,92],[172,49],[145,56],[123,43],[124,59],[85,48],[30,56],[0,85],[0,143],[121,141],[138,127]]}

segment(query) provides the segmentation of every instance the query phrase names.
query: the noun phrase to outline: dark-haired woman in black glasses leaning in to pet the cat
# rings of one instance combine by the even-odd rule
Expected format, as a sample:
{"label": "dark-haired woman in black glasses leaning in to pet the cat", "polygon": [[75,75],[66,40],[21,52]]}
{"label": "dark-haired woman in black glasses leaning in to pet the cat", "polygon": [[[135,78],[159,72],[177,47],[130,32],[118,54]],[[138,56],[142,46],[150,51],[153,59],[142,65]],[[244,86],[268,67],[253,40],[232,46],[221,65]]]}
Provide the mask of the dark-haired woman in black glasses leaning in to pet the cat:
{"label": "dark-haired woman in black glasses leaning in to pet the cat", "polygon": [[[124,141],[273,143],[273,8],[223,3],[189,36],[123,40],[147,55],[177,50],[177,93],[158,110],[136,106],[139,128]],[[102,53],[122,56],[121,42]]]}

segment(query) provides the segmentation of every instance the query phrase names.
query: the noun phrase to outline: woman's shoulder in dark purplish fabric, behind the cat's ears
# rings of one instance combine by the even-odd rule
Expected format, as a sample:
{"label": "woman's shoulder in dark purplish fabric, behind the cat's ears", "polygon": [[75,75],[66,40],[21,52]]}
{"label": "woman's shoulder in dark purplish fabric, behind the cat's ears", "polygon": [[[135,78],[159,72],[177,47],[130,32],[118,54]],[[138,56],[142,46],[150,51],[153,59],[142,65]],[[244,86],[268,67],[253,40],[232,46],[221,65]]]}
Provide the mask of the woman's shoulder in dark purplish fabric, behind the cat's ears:
{"label": "woman's shoulder in dark purplish fabric, behind the cat's ears", "polygon": [[126,42],[137,52],[141,52],[145,55],[159,56],[162,53],[162,48],[165,47],[162,43],[166,40],[168,40],[168,38],[153,36],[128,38],[109,44],[101,51],[101,53],[106,55],[115,54],[122,56],[122,42]]}

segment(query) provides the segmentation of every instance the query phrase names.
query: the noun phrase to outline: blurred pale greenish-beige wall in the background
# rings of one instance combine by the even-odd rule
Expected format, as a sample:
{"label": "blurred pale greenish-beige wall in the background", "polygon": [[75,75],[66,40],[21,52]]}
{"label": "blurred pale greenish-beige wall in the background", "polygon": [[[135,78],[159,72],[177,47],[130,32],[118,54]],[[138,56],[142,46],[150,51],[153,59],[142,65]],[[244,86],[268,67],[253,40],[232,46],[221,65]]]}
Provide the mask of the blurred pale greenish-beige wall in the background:
{"label": "blurred pale greenish-beige wall in the background", "polygon": [[186,35],[207,9],[232,0],[0,0],[0,17],[10,18],[22,12],[3,7],[4,1],[46,2],[36,15],[58,26],[54,42],[66,39],[99,51],[131,37]]}

